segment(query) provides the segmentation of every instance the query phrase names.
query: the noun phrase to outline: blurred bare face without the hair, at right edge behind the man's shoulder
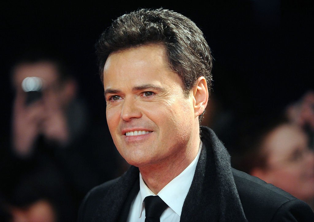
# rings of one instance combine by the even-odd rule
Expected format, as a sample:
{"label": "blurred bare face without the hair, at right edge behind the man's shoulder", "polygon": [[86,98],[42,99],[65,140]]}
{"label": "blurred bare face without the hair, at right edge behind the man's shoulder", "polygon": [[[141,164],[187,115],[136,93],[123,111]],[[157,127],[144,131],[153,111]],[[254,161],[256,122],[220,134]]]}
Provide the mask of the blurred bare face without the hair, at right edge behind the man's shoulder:
{"label": "blurred bare face without the hair, at right edge behind the man's shoulder", "polygon": [[263,151],[268,158],[258,177],[301,200],[314,198],[314,154],[299,127],[279,125],[266,136]]}

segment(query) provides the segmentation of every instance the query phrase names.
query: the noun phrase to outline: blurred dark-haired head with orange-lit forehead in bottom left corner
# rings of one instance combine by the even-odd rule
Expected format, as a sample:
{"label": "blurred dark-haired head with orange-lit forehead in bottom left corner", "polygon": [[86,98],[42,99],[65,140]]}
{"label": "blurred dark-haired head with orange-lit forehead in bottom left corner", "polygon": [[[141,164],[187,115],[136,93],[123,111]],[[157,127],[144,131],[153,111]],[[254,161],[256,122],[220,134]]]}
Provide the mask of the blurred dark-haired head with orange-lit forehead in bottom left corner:
{"label": "blurred dark-haired head with orange-lit forehead in bottom left corner", "polygon": [[76,207],[69,184],[53,164],[24,171],[12,186],[3,203],[6,218],[2,221],[75,221]]}

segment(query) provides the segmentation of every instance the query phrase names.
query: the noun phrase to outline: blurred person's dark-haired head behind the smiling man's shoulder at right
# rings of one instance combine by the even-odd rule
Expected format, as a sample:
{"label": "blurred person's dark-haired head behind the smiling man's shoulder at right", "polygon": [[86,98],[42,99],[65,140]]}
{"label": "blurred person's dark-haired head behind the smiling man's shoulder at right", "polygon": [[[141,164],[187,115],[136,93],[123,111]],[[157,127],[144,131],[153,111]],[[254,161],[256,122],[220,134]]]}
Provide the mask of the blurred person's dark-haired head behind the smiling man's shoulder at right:
{"label": "blurred person's dark-haired head behind the smiling man's shoulder at right", "polygon": [[314,153],[308,146],[308,135],[289,122],[263,130],[248,135],[252,137],[246,140],[246,152],[237,167],[282,188],[313,209]]}

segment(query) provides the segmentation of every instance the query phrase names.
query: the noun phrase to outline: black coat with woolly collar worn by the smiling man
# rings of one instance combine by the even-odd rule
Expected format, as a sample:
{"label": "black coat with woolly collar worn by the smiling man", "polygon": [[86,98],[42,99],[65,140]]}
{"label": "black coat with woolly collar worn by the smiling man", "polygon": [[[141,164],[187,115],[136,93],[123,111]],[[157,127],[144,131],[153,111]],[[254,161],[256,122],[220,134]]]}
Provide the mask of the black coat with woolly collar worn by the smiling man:
{"label": "black coat with woolly collar worn by the smiling man", "polygon": [[[314,221],[311,208],[257,177],[235,170],[216,135],[202,127],[203,147],[180,221]],[[139,171],[130,169],[92,189],[78,221],[126,221],[139,191]]]}

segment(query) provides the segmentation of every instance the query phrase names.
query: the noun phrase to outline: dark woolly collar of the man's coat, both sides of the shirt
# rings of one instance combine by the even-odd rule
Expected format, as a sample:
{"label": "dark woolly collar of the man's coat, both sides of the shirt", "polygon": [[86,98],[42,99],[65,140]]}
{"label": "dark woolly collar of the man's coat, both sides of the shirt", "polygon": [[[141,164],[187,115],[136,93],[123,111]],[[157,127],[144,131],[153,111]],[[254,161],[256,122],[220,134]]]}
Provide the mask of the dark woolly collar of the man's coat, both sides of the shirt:
{"label": "dark woolly collar of the man's coat, both sides of the shirt", "polygon": [[[201,132],[203,147],[180,221],[246,221],[228,152],[211,129]],[[138,191],[139,170],[131,166],[103,197],[95,221],[126,221]]]}

